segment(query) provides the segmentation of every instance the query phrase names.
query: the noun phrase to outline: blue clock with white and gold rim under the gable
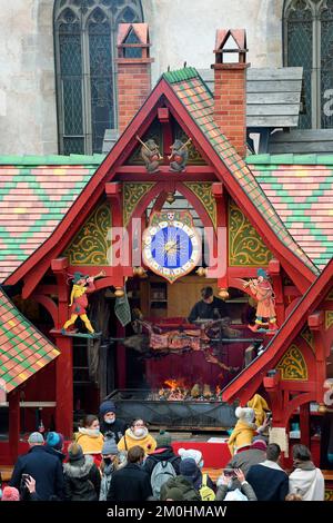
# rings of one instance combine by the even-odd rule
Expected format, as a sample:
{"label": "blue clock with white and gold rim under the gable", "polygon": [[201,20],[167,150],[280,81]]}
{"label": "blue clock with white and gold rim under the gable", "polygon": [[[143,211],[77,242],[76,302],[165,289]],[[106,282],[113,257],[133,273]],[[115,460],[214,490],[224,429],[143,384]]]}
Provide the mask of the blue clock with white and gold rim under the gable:
{"label": "blue clock with white and gold rim under the gable", "polygon": [[171,284],[193,270],[201,259],[201,238],[190,213],[153,213],[142,235],[142,258]]}

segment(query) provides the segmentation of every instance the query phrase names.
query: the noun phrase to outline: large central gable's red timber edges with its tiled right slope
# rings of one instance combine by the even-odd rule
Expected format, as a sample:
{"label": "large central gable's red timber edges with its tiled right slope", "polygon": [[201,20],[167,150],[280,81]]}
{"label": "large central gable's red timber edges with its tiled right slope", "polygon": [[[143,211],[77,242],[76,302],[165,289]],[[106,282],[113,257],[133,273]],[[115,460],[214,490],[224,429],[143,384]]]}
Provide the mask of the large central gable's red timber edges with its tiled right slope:
{"label": "large central gable's red timber edges with its tiled right slope", "polygon": [[[285,270],[299,280],[302,290],[307,288],[316,268],[290,236],[246,164],[221,134],[213,119],[212,95],[192,68],[163,75],[97,171],[84,172],[85,185],[82,181],[82,190],[78,191],[75,200],[73,198],[70,201],[73,205],[69,204],[67,209],[63,209],[63,218],[53,225],[56,228],[52,234],[43,243],[38,244],[37,250],[30,258],[7,279],[8,284],[18,282],[27,272],[34,268],[37,263],[46,256],[49,257],[51,249],[52,257],[63,253],[104,194],[104,182],[111,181],[115,175],[121,179],[121,166],[138,148],[138,135],[144,136],[161,103],[170,109],[173,117],[181,122],[184,132],[191,136],[202,157],[213,167],[218,179],[223,181],[243,213],[246,213],[252,224],[255,224],[268,247],[281,258]],[[191,172],[190,167],[189,172]],[[168,170],[169,167],[163,166],[160,176],[163,178]],[[51,258],[48,259],[50,263]],[[42,270],[47,270],[47,263],[43,263]],[[43,272],[38,273],[40,277]]]}

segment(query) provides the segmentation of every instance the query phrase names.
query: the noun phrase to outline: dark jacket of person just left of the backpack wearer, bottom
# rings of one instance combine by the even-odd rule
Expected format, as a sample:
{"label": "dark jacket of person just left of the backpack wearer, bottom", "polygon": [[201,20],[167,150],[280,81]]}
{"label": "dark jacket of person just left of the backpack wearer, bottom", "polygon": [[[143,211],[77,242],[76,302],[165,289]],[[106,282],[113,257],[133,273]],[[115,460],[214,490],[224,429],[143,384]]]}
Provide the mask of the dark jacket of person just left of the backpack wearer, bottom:
{"label": "dark jacket of person just left of the backpack wearer, bottom", "polygon": [[113,473],[108,501],[145,501],[151,495],[150,477],[140,465],[129,463]]}

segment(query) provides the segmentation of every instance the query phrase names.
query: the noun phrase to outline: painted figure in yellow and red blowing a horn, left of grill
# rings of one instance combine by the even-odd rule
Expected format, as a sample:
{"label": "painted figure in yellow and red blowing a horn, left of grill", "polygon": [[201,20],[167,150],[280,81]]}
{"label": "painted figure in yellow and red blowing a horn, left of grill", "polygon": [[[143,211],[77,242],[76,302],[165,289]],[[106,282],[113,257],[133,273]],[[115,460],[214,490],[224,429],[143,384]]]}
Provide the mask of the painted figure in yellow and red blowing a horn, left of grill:
{"label": "painted figure in yellow and red blowing a horn, left of grill", "polygon": [[71,292],[71,300],[69,305],[71,317],[63,325],[63,332],[67,330],[70,325],[73,325],[78,316],[80,316],[80,318],[85,325],[87,330],[89,330],[90,334],[94,333],[94,329],[92,328],[92,325],[87,316],[85,310],[88,307],[87,294],[93,293],[93,290],[95,290],[95,286],[93,285],[94,278],[97,278],[97,276],[87,276],[82,273],[74,273],[72,278],[73,288]]}

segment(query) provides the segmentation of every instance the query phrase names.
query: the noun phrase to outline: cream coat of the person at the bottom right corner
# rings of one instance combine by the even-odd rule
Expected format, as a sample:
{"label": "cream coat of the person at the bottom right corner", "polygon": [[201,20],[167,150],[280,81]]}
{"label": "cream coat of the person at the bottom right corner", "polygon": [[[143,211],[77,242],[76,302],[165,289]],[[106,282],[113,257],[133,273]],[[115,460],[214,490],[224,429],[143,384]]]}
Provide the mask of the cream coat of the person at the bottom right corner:
{"label": "cream coat of the person at the bottom right corner", "polygon": [[300,494],[303,501],[324,501],[325,480],[322,471],[295,468],[289,476],[289,492]]}

